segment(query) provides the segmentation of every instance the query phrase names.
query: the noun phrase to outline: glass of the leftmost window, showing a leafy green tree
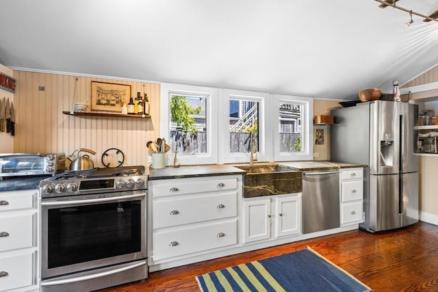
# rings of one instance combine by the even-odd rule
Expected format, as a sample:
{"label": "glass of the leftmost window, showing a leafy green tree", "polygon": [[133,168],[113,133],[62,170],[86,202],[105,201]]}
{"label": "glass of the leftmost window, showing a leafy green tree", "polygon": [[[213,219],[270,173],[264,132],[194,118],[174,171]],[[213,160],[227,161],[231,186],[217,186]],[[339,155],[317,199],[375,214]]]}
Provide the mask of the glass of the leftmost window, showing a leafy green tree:
{"label": "glass of the leftmost window, showing a leafy green tree", "polygon": [[180,153],[207,152],[207,98],[170,94],[170,148]]}

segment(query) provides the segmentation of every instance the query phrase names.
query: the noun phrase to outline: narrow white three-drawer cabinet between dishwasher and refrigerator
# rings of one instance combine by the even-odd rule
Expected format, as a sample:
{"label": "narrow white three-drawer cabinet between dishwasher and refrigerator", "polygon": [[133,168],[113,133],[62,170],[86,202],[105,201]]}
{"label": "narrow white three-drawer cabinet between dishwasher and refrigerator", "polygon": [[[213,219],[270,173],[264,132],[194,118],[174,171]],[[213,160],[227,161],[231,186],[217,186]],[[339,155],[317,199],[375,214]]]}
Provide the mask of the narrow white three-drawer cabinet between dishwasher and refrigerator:
{"label": "narrow white three-drawer cabinet between dishwasher and refrigerator", "polygon": [[363,222],[363,168],[346,168],[339,172],[341,226]]}

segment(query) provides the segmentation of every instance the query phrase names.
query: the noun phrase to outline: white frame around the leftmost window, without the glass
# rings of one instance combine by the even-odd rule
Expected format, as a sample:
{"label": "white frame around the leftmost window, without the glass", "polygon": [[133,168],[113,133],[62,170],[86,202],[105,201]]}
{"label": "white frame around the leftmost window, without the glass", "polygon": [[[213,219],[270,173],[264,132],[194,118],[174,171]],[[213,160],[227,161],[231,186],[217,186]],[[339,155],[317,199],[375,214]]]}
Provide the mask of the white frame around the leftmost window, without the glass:
{"label": "white frame around the leftmost window, without the glass", "polygon": [[[207,152],[206,153],[178,153],[178,162],[181,165],[215,164],[218,163],[218,89],[194,85],[182,85],[173,83],[161,83],[161,122],[160,133],[166,141],[170,141],[170,94],[172,95],[200,95],[205,96],[205,116],[207,128]],[[172,150],[173,151],[173,150]],[[173,152],[167,155],[166,165],[172,165]]]}

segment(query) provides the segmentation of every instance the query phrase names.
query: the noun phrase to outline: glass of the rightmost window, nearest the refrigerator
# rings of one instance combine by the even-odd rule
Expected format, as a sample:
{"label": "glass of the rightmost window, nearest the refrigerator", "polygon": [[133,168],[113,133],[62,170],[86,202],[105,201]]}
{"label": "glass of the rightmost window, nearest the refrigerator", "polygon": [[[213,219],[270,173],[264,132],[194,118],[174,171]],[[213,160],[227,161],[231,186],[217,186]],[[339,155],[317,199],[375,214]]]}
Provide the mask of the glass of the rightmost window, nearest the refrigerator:
{"label": "glass of the rightmost window, nearest the refrigerator", "polygon": [[302,105],[280,103],[280,152],[302,152]]}

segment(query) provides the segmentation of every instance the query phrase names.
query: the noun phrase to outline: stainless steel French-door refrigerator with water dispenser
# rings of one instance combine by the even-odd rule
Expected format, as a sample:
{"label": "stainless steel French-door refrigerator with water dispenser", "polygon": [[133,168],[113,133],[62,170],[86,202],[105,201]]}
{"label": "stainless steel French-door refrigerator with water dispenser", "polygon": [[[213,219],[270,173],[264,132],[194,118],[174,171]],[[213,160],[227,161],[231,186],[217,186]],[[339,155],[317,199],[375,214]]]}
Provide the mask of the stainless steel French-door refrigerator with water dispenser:
{"label": "stainless steel French-door refrigerator with water dispenser", "polygon": [[360,227],[378,232],[418,222],[418,159],[413,155],[418,106],[372,101],[331,114],[331,160],[368,166]]}

